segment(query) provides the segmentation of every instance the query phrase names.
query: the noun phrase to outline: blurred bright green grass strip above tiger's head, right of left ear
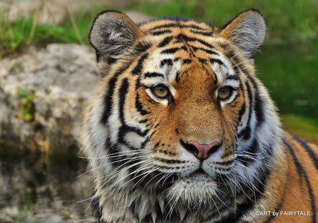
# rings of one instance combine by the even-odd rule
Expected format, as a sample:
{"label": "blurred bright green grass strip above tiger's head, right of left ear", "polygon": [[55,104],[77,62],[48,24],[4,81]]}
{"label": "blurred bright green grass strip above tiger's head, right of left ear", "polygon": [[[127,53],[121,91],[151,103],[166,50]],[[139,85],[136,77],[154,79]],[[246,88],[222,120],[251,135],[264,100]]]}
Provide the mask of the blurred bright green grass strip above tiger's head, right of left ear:
{"label": "blurred bright green grass strip above tiger's head, right of left ear", "polygon": [[311,37],[318,32],[317,0],[166,0],[131,1],[134,10],[153,16],[184,16],[222,27],[242,11],[256,8],[264,14],[270,37]]}

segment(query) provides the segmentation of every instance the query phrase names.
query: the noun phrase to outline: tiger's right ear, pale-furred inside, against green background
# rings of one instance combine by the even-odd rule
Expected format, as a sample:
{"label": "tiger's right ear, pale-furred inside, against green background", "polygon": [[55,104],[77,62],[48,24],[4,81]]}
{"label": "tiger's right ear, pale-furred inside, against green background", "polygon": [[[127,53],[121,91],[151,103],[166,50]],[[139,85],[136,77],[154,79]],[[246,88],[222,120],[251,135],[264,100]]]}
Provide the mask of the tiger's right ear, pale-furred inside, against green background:
{"label": "tiger's right ear, pale-furred inside, against green background", "polygon": [[264,16],[257,10],[249,9],[225,25],[220,35],[236,44],[246,56],[252,58],[264,44],[266,32]]}

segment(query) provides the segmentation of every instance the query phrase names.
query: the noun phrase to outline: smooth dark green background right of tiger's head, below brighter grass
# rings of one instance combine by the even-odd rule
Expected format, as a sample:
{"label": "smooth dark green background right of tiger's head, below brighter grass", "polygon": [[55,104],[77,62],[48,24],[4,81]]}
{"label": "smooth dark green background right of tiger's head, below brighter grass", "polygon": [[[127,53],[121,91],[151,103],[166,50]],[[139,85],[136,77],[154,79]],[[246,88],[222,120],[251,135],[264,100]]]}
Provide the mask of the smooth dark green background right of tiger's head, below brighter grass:
{"label": "smooth dark green background right of tiger's head, below brighter grass", "polygon": [[255,55],[257,76],[282,113],[318,118],[317,61],[317,40],[269,43]]}

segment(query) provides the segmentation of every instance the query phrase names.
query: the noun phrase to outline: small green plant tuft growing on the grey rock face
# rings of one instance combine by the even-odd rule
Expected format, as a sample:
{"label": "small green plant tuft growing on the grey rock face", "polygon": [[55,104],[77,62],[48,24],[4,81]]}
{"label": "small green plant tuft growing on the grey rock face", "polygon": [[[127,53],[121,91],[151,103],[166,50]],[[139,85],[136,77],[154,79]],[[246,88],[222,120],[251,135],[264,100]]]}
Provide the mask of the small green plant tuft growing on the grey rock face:
{"label": "small green plant tuft growing on the grey rock face", "polygon": [[19,118],[25,121],[33,121],[34,120],[34,104],[33,97],[35,92],[33,90],[26,91],[22,88],[17,88],[18,94],[20,95],[20,103],[19,103]]}

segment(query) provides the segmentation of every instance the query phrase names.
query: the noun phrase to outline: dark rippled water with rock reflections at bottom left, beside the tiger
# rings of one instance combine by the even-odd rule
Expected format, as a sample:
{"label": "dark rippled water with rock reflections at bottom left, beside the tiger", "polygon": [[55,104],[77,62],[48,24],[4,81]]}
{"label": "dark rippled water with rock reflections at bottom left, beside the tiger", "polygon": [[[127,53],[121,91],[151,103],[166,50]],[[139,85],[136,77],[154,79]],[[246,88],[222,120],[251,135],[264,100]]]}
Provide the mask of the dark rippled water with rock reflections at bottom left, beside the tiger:
{"label": "dark rippled water with rock reflections at bottom left, beside the tiger", "polygon": [[76,152],[49,157],[1,147],[0,222],[93,222],[86,210],[91,183]]}

